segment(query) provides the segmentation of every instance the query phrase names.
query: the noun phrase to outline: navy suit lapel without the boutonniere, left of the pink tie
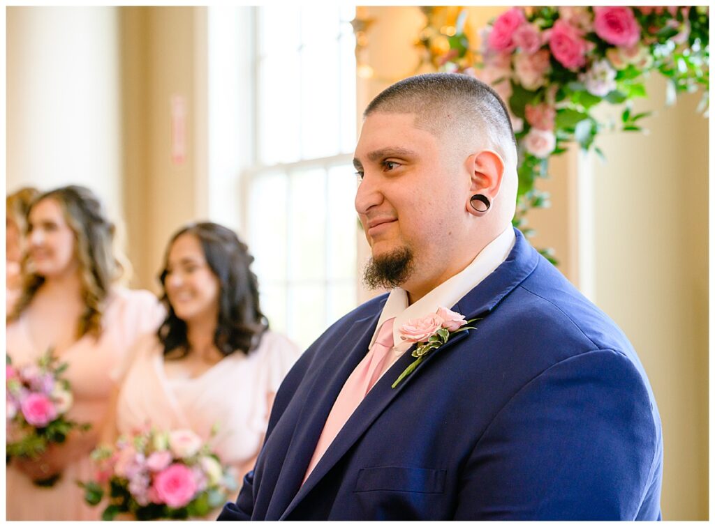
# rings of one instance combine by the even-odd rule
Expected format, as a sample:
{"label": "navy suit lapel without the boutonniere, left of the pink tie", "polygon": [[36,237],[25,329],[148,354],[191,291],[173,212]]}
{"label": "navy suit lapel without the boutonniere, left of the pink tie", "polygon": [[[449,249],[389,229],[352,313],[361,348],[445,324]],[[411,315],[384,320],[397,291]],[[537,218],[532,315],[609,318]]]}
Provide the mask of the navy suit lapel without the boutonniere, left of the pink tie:
{"label": "navy suit lapel without the boutonniere, left of the pink tie", "polygon": [[355,321],[340,341],[328,341],[323,346],[330,346],[330,349],[317,354],[318,361],[322,356],[329,358],[322,366],[318,366],[313,373],[312,386],[303,394],[303,406],[295,421],[295,433],[290,440],[275,490],[272,491],[274,498],[267,511],[268,518],[280,516],[296,492],[301,494],[299,489],[327,416],[350,373],[367,353],[380,311]]}

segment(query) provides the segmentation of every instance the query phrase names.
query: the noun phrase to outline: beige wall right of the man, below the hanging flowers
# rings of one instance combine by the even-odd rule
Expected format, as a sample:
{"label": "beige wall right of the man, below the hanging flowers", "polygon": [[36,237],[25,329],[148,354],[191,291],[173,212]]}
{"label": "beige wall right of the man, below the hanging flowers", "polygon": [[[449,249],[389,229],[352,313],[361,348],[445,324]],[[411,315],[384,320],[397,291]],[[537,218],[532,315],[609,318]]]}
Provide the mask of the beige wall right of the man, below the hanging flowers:
{"label": "beige wall right of the man, below the hanging flowers", "polygon": [[595,301],[631,339],[664,436],[663,516],[708,518],[708,121],[699,94],[666,108],[648,83],[649,134],[599,139],[592,160]]}

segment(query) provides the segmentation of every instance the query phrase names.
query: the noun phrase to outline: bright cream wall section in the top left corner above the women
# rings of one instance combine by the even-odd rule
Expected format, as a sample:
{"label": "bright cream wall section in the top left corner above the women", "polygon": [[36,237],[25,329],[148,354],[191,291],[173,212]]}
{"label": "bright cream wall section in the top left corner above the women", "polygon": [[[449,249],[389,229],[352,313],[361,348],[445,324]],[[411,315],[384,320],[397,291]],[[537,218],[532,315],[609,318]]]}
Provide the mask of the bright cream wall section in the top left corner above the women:
{"label": "bright cream wall section in the top left corner above the women", "polygon": [[81,184],[122,213],[118,10],[6,9],[6,190]]}

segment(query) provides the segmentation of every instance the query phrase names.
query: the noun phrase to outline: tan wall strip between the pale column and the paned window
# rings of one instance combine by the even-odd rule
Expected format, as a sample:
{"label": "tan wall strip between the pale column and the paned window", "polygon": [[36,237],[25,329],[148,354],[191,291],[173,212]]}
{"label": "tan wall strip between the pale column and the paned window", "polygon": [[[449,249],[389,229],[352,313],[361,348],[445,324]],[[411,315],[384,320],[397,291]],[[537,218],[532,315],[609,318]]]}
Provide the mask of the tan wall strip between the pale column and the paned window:
{"label": "tan wall strip between the pale column and the paned window", "polygon": [[[129,258],[134,284],[158,291],[169,236],[207,211],[205,8],[123,8],[121,22]],[[172,160],[174,96],[187,110],[182,163]]]}

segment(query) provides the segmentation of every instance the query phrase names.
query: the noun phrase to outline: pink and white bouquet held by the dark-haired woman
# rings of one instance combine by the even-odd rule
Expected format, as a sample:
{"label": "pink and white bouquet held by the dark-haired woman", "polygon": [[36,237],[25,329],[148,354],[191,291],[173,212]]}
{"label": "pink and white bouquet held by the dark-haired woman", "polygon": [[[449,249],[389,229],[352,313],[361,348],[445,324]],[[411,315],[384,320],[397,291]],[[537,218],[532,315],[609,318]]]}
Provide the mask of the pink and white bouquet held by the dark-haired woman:
{"label": "pink and white bouquet held by the dark-haired woman", "polygon": [[154,428],[122,435],[92,452],[94,481],[78,482],[92,506],[107,496],[103,520],[117,514],[137,520],[206,516],[237,489],[233,469],[222,466],[209,443],[191,430]]}

